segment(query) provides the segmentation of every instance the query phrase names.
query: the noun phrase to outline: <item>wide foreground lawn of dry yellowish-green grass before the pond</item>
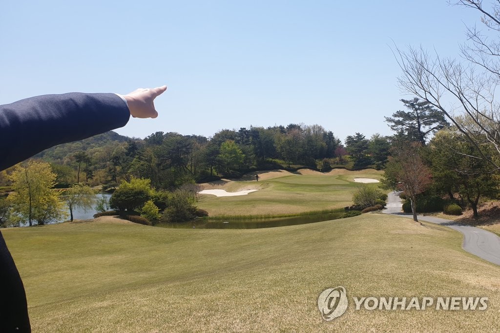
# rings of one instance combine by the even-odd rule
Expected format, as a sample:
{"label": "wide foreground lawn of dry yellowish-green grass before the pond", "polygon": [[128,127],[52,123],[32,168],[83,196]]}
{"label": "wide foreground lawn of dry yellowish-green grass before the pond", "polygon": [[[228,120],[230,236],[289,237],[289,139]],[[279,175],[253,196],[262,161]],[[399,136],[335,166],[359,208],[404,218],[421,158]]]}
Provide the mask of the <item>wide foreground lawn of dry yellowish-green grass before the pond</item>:
{"label": "wide foreground lawn of dry yellowish-green grass before the pond", "polygon": [[[383,214],[266,229],[112,217],[2,231],[34,332],[498,331],[500,267],[449,228]],[[347,312],[316,298],[344,286]],[[354,310],[352,296],[487,296],[485,311]]]}

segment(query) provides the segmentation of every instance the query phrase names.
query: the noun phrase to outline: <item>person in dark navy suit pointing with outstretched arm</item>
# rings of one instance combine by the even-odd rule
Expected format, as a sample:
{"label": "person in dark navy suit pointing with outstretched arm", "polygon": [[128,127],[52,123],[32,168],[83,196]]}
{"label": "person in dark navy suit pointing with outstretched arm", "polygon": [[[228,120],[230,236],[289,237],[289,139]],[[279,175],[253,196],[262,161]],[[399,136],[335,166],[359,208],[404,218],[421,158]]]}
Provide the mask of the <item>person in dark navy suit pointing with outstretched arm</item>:
{"label": "person in dark navy suit pointing with outstretched arm", "polygon": [[[124,126],[130,115],[156,118],[166,85],[126,95],[71,92],[0,105],[0,171],[56,144]],[[0,332],[30,332],[26,294],[0,232]]]}

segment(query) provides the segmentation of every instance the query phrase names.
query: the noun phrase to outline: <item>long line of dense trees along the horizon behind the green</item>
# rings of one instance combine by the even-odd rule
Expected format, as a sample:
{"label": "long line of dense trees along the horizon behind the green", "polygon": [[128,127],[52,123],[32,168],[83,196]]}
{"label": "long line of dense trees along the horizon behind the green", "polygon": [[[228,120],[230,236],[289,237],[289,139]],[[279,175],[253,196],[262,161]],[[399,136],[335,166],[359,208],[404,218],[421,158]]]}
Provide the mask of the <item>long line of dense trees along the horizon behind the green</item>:
{"label": "long line of dense trees along the horizon behind the green", "polygon": [[[171,189],[252,170],[381,168],[389,147],[389,137],[379,134],[365,138],[356,132],[344,145],[319,124],[291,123],[222,129],[212,137],[158,131],[135,139],[109,131],[54,146],[33,158],[51,164],[58,187],[82,181],[114,187],[134,176],[151,179],[156,188]],[[9,184],[9,171],[1,171],[0,186]]]}

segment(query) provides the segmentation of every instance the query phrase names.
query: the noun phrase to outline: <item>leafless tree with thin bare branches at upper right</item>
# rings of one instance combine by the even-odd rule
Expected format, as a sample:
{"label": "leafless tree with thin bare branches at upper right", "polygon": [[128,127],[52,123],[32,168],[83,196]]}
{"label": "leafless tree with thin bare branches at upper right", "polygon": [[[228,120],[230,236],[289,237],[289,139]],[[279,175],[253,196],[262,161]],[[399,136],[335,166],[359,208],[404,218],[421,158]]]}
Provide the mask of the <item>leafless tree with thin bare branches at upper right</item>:
{"label": "leafless tree with thin bare branches at upper right", "polygon": [[[400,88],[442,111],[476,148],[476,156],[500,169],[500,103],[495,98],[500,83],[500,0],[488,8],[482,2],[453,3],[478,10],[488,30],[466,28],[461,59],[442,58],[421,46],[396,47],[394,56],[402,69]],[[496,153],[485,155],[479,148],[484,144]]]}

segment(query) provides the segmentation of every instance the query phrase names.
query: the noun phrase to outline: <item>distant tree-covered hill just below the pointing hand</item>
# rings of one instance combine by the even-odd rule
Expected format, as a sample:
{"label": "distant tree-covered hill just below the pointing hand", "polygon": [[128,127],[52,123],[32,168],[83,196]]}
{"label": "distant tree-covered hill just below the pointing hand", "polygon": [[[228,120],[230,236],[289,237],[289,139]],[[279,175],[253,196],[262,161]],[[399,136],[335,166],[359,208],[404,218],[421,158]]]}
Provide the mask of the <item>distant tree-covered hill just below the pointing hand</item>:
{"label": "distant tree-covered hill just below the pointing hand", "polygon": [[107,145],[116,145],[128,140],[136,139],[120,135],[110,130],[108,132],[94,135],[83,140],[53,146],[37,153],[33,157],[56,162],[63,160],[64,157],[66,157],[68,154],[73,154],[77,151],[87,151],[93,148],[102,148]]}

